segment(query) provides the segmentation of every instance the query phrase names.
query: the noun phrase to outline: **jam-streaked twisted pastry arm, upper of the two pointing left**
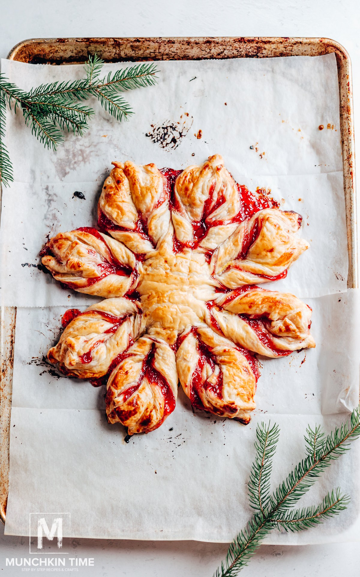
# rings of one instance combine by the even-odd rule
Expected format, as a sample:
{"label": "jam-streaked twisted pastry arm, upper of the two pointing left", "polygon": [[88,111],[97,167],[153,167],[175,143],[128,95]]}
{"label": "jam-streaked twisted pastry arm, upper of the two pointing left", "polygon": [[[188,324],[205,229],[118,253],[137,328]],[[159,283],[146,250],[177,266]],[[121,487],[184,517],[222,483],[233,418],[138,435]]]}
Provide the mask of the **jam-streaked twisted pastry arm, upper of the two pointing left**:
{"label": "jam-streaked twisted pastry arm, upper of the two pointing left", "polygon": [[122,297],[137,283],[134,254],[95,228],[59,233],[46,243],[40,255],[54,279],[79,293]]}

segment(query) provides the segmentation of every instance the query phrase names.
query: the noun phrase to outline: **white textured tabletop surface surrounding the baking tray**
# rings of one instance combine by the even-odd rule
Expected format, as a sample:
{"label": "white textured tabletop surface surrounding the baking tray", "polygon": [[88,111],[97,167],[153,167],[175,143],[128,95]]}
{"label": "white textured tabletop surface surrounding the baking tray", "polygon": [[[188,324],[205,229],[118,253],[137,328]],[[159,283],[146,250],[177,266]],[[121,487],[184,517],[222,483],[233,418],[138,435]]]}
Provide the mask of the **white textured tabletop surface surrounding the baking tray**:
{"label": "white textured tabletop surface surrounding the baking tray", "polygon": [[[353,63],[355,118],[360,115],[360,3],[358,0],[0,0],[0,57],[26,38],[60,36],[323,36],[338,40]],[[358,114],[359,113],[359,114]],[[360,537],[360,536],[359,536]],[[73,539],[74,556],[94,557],[96,577],[211,576],[226,546],[198,542],[131,542]],[[262,547],[244,577],[347,577],[360,575],[359,544]],[[6,557],[28,553],[25,538],[0,535]]]}

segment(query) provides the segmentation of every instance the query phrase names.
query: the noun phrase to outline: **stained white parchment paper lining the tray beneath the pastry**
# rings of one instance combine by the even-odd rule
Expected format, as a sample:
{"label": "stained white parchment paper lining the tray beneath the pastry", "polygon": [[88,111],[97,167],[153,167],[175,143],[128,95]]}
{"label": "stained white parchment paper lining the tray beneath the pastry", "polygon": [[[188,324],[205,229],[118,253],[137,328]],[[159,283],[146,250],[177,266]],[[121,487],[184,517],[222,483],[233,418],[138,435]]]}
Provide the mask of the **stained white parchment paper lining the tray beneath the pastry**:
{"label": "stained white parchment paper lining the tray beneath the pastry", "polygon": [[[105,71],[113,68],[118,65]],[[359,304],[357,291],[346,292],[335,56],[160,62],[158,68],[157,87],[128,93],[136,113],[130,122],[118,124],[97,110],[86,136],[66,138],[56,153],[43,151],[19,115],[7,117],[16,181],[2,197],[0,298],[23,307],[16,324],[8,534],[28,534],[31,511],[66,510],[72,534],[82,537],[229,541],[251,514],[247,481],[256,423],[271,419],[282,429],[275,486],[304,455],[308,423],[334,428],[358,403]],[[83,74],[81,66],[8,61],[2,72],[22,88]],[[173,124],[183,134],[175,135],[176,148],[146,136]],[[179,390],[165,424],[126,444],[124,429],[107,424],[104,389],[55,376],[43,360],[66,308],[93,298],[41,274],[38,253],[47,234],[96,222],[112,160],[181,168],[217,152],[238,182],[270,188],[282,208],[302,213],[310,249],[276,288],[312,306],[317,347],[260,359],[257,409],[247,427],[193,414]],[[73,198],[75,190],[86,200]],[[314,531],[272,534],[267,542],[354,538],[359,453],[355,445],[306,497],[306,504],[316,503],[341,485],[352,497],[346,512]]]}

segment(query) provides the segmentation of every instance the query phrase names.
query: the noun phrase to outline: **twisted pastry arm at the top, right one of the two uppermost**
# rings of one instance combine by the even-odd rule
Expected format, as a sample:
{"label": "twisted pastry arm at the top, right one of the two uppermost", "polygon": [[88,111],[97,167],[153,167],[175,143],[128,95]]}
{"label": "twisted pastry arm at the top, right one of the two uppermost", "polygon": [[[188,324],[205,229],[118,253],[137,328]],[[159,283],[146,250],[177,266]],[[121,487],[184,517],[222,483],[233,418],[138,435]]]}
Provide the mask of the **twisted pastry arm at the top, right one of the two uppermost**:
{"label": "twisted pastry arm at the top, right one of the two uppermost", "polygon": [[236,182],[216,154],[202,166],[189,166],[177,177],[172,221],[176,238],[187,246],[215,249],[236,229],[240,210]]}

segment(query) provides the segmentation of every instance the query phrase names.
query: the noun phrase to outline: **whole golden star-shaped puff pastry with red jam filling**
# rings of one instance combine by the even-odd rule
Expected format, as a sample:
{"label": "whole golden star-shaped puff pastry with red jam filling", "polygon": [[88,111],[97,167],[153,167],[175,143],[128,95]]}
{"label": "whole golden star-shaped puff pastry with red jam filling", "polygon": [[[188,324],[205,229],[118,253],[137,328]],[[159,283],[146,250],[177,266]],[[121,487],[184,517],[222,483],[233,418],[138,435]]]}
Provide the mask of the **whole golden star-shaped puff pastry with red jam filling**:
{"label": "whole golden star-shaped puff pastry with red jam filling", "polygon": [[239,185],[218,154],[184,170],[113,166],[98,201],[101,232],[60,233],[41,254],[56,280],[107,297],[65,314],[48,358],[107,384],[108,422],[129,435],[164,422],[179,380],[195,409],[247,424],[255,354],[315,346],[309,306],[256,286],[284,278],[309,248],[301,215]]}

